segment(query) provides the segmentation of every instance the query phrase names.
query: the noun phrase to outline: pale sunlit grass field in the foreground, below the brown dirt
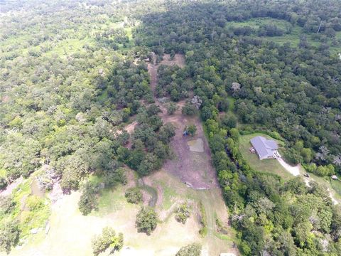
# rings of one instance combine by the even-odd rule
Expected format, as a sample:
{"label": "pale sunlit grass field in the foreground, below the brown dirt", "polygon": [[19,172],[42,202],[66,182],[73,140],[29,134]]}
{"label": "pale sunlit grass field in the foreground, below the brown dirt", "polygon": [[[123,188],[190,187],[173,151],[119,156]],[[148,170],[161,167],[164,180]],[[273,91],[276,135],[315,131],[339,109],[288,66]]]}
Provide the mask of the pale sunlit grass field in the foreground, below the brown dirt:
{"label": "pale sunlit grass field in the foreground, below the brown dirt", "polygon": [[[146,256],[175,255],[181,246],[190,242],[202,243],[206,255],[232,251],[232,238],[227,240],[233,237],[232,231],[222,239],[215,230],[216,216],[227,223],[227,208],[222,201],[220,189],[195,191],[163,170],[147,179],[146,183],[157,188],[158,198],[163,198],[156,206],[161,222],[150,236],[136,231],[135,218],[139,206],[126,202],[124,192],[129,187],[127,184],[115,190],[103,191],[99,211],[88,216],[83,216],[77,208],[80,192],[64,195],[52,206],[49,233],[45,235],[45,230],[40,230],[28,243],[16,247],[11,255],[92,255],[91,238],[107,225],[124,233],[124,247],[131,248],[117,255],[131,255],[131,252]],[[193,206],[185,225],[173,217],[173,209],[183,201]],[[202,201],[207,213],[208,233],[205,238],[201,238],[198,233],[200,224],[196,205],[199,201]]]}

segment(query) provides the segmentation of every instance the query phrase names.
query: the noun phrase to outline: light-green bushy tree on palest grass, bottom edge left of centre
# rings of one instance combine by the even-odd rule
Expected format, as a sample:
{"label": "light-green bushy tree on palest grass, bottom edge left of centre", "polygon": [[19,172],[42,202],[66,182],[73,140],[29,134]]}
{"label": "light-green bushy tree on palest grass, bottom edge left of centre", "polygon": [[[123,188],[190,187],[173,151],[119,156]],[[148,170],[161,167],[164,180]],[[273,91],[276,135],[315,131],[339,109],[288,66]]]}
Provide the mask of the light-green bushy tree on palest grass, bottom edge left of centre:
{"label": "light-green bushy tree on palest grass, bottom edge left of centre", "polygon": [[110,227],[103,228],[102,235],[92,238],[92,250],[94,256],[98,256],[101,252],[105,252],[110,248],[110,254],[121,250],[123,247],[123,234],[116,235],[115,230]]}

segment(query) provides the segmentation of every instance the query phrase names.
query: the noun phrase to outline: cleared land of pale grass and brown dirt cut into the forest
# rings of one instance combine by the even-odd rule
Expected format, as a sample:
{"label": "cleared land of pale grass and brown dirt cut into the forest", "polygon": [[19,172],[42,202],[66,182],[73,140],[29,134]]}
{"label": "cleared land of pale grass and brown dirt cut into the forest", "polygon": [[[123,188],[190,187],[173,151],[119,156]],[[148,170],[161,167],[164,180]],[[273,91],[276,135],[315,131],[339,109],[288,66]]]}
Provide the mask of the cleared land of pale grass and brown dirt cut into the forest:
{"label": "cleared land of pale grass and brown dirt cut into the forest", "polygon": [[[183,56],[175,56],[174,61],[184,64]],[[173,65],[172,62],[166,63]],[[153,88],[157,82],[157,68],[153,63],[148,63]],[[156,104],[163,111],[160,114],[163,122],[171,122],[176,127],[176,135],[171,142],[175,158],[167,161],[160,171],[140,179],[134,171],[127,169],[128,183],[113,190],[104,189],[99,198],[99,211],[88,216],[83,216],[78,210],[80,192],[63,195],[56,186],[50,192],[53,205],[48,234],[40,229],[21,247],[12,250],[11,255],[92,255],[92,236],[101,233],[107,225],[124,233],[124,248],[115,255],[175,255],[180,247],[191,242],[200,242],[202,255],[205,256],[220,255],[222,252],[238,254],[232,247],[235,234],[228,227],[227,207],[215,170],[210,164],[210,149],[199,118],[183,116],[180,109],[185,102],[178,102],[179,110],[171,116],[166,114],[166,106],[160,102]],[[197,126],[195,137],[183,137],[183,129],[188,124]],[[124,129],[132,132],[135,125],[133,122]],[[188,142],[193,144],[192,150]],[[95,176],[90,178],[96,179]],[[188,184],[194,188],[210,189],[195,190]],[[137,233],[135,219],[140,206],[127,203],[124,197],[126,189],[133,186],[139,186],[143,192],[144,202],[141,204],[153,206],[158,213],[158,227],[150,236]],[[183,225],[175,220],[173,212],[185,201],[190,205],[191,215]],[[202,228],[200,202],[207,219],[207,235],[204,238],[199,234]],[[225,233],[218,231],[217,219],[226,228]]]}

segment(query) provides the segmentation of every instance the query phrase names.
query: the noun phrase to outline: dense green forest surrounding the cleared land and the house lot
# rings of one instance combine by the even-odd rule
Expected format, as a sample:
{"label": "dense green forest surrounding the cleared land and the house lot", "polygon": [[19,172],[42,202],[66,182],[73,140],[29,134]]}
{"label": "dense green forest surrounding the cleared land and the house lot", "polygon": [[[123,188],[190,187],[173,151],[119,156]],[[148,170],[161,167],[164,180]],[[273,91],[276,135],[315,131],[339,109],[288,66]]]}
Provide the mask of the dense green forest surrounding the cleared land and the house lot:
{"label": "dense green forest surrounding the cleared land and the house lot", "polygon": [[[340,1],[37,0],[0,10],[1,188],[35,173],[46,189],[82,188],[87,214],[99,188],[82,178],[115,186],[124,165],[140,176],[160,169],[175,132],[140,60],[181,53],[185,68],[158,69],[156,95],[200,97],[242,255],[341,255],[341,210],[328,192],[254,171],[238,147],[240,134],[264,132],[286,142],[292,164],[341,174]],[[117,133],[132,120],[132,134]],[[17,198],[1,200],[9,252],[28,222]]]}

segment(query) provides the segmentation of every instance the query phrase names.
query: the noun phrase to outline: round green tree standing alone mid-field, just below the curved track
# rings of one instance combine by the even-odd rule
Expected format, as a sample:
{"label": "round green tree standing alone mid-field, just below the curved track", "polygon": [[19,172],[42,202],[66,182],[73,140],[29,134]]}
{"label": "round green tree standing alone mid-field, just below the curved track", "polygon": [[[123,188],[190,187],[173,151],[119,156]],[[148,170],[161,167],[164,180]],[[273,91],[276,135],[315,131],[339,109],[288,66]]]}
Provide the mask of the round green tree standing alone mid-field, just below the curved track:
{"label": "round green tree standing alone mid-field, just below the curved track", "polygon": [[153,208],[142,207],[136,215],[136,228],[139,233],[143,232],[151,235],[151,232],[156,229],[158,216]]}

